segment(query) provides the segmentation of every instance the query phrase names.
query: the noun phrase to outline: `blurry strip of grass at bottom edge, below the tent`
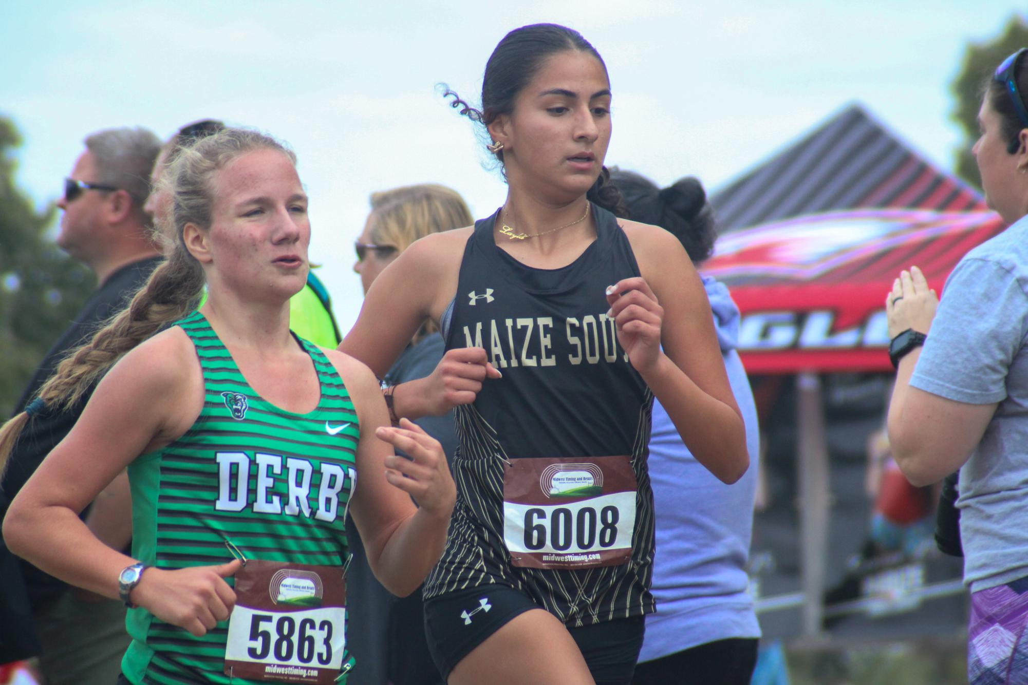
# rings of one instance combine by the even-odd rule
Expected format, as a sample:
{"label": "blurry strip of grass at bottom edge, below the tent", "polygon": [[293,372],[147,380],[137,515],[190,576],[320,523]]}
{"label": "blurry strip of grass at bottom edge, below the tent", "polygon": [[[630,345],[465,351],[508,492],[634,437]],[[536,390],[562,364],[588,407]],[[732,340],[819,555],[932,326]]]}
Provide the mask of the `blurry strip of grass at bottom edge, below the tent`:
{"label": "blurry strip of grass at bottom edge, below the tent", "polygon": [[962,641],[861,644],[785,650],[791,685],[960,685],[967,682]]}

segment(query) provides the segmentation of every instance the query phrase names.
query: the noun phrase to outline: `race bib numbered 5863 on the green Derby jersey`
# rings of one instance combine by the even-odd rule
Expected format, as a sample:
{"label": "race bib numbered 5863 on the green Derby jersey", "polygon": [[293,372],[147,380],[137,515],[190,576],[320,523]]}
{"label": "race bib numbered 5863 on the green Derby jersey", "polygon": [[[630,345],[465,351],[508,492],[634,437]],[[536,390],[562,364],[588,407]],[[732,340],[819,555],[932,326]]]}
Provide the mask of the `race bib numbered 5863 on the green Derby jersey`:
{"label": "race bib numbered 5863 on the green Derby jersey", "polygon": [[235,574],[225,675],[332,685],[345,648],[340,567],[249,560]]}

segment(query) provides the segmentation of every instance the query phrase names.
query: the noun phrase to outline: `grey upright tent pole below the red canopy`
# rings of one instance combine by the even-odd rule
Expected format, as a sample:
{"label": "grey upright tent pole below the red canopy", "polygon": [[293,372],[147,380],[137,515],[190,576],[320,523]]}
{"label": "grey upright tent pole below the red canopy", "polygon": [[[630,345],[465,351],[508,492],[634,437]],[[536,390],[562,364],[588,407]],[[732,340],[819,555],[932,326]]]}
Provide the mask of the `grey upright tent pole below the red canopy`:
{"label": "grey upright tent pole below the red canopy", "polygon": [[824,436],[821,382],[817,374],[796,378],[799,448],[800,561],[803,579],[803,635],[822,630],[829,533],[829,452]]}

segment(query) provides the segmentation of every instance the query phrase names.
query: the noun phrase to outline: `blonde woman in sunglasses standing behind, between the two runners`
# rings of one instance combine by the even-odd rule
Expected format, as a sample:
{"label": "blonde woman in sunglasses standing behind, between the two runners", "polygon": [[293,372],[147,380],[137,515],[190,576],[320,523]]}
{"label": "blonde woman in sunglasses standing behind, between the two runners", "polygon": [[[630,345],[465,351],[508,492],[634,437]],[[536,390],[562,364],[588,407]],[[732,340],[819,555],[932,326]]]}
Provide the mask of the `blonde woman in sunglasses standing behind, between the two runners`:
{"label": "blonde woman in sunglasses standing behind, between the two runners", "polygon": [[[354,271],[361,276],[364,292],[381,270],[416,240],[432,233],[472,223],[464,198],[445,186],[421,184],[372,193],[371,213],[355,246]],[[443,356],[445,343],[435,321],[426,320],[410,344],[384,376],[386,385],[404,383],[431,374]],[[414,421],[432,435],[450,457],[456,449],[453,413],[426,416]],[[371,573],[360,538],[347,522],[353,545],[348,582],[354,603],[351,615],[361,632],[351,640],[354,656],[361,664],[361,682],[404,685],[441,683],[425,639],[421,592],[397,600]]]}

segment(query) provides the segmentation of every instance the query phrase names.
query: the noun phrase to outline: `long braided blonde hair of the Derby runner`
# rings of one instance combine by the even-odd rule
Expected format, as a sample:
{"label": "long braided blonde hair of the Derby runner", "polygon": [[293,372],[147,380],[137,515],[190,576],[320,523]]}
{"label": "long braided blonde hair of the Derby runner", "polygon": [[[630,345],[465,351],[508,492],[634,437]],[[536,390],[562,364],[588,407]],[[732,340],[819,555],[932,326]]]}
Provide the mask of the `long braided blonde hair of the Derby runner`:
{"label": "long braided blonde hair of the Derby runner", "polygon": [[[172,211],[157,218],[171,223],[161,226],[160,232],[175,236],[167,259],[124,309],[61,361],[37,395],[46,411],[64,411],[84,399],[125,353],[195,309],[205,276],[199,262],[186,250],[183,230],[186,224],[205,230],[211,226],[215,175],[233,159],[262,149],[280,151],[296,163],[296,156],[273,138],[243,128],[225,128],[175,155],[160,180],[162,190],[172,196]],[[30,419],[22,412],[0,428],[0,471]]]}

